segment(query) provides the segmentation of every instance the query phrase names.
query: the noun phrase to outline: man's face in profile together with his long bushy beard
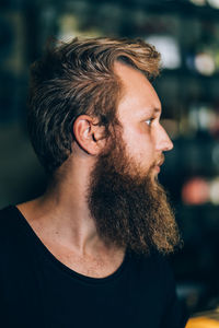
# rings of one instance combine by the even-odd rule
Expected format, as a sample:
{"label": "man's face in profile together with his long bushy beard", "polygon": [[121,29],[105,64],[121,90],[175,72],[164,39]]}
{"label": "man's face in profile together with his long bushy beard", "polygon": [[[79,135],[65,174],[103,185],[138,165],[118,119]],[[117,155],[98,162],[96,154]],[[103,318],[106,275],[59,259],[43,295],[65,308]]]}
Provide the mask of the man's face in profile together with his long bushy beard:
{"label": "man's face in profile together with his long bushy beard", "polygon": [[146,109],[155,107],[159,99],[146,77],[124,65],[119,74],[124,83],[117,109],[120,126],[91,173],[90,212],[106,243],[138,254],[150,253],[152,248],[171,253],[180,243],[180,235],[157,176],[164,161],[163,151],[170,150],[172,142],[160,126],[160,110],[151,127],[147,126]]}

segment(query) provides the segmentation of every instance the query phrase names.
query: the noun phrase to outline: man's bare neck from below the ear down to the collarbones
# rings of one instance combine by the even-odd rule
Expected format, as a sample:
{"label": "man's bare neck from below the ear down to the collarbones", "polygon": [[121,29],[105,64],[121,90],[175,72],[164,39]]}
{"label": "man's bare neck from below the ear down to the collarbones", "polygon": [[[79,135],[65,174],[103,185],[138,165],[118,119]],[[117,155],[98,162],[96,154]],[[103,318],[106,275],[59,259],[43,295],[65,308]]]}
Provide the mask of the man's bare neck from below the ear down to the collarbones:
{"label": "man's bare neck from below the ear down to the collarbones", "polygon": [[41,226],[47,238],[81,255],[105,247],[87,201],[91,164],[71,162],[70,169],[62,169],[42,197],[18,206],[27,221]]}

